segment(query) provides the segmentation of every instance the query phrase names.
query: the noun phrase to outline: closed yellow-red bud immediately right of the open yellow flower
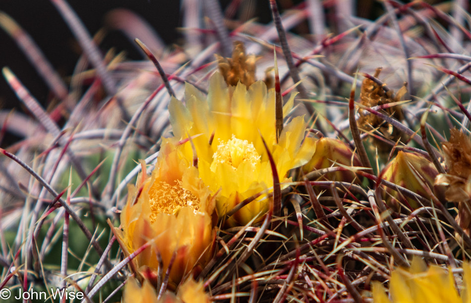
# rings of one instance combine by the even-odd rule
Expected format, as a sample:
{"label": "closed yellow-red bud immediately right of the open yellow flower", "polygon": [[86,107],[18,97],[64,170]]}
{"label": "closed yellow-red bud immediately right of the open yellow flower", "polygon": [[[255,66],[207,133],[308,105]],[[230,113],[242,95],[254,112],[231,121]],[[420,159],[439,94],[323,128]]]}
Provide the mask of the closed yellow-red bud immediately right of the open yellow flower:
{"label": "closed yellow-red bud immediately right of the open yellow flower", "polygon": [[[316,141],[314,155],[307,164],[302,166],[302,170],[304,173],[309,173],[317,169],[338,166],[337,164],[361,166],[360,159],[347,144],[339,139],[324,137]],[[356,175],[352,171],[344,170],[328,173],[324,176],[328,180],[353,182]]]}

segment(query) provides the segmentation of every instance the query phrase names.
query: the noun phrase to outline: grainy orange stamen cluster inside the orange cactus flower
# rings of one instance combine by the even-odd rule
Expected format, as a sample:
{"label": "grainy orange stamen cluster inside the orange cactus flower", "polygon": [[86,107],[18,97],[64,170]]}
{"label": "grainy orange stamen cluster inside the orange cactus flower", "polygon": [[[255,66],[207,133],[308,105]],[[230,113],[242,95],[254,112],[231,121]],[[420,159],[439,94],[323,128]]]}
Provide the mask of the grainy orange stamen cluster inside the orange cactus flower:
{"label": "grainy orange stamen cluster inside the orange cactus flower", "polygon": [[181,187],[181,181],[177,180],[177,184],[170,185],[167,182],[159,182],[149,192],[150,196],[150,215],[151,223],[154,223],[158,213],[176,214],[181,207],[189,206],[194,213],[198,212],[198,198],[190,191]]}

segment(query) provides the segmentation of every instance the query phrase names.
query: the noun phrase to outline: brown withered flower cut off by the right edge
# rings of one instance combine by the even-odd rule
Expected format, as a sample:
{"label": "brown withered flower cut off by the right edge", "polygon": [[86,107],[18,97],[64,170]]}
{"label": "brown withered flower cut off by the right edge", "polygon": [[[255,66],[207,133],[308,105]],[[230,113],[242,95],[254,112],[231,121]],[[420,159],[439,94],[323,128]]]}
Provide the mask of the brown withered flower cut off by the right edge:
{"label": "brown withered flower cut off by the right edge", "polygon": [[438,175],[435,184],[447,187],[445,192],[447,201],[458,202],[456,221],[469,235],[471,227],[471,140],[456,128],[450,130],[450,133],[450,140],[442,143],[448,173]]}

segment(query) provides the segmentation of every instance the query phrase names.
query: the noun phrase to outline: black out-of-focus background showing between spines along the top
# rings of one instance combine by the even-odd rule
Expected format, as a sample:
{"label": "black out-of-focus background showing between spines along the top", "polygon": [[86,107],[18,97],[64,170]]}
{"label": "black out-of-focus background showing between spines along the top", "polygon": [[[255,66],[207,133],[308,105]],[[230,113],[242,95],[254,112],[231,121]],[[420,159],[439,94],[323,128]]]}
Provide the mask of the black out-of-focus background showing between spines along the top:
{"label": "black out-of-focus background showing between spines along the top", "polygon": [[[220,0],[224,8],[235,0]],[[245,0],[253,3],[253,16],[257,21],[268,23],[271,21],[271,13],[268,0]],[[277,0],[279,8],[293,7],[302,0]],[[406,1],[407,2],[407,1]],[[437,2],[430,0],[428,2]],[[178,44],[181,38],[177,27],[182,26],[182,14],[180,13],[180,0],[68,0],[68,3],[81,18],[89,33],[95,34],[104,25],[104,17],[114,8],[129,9],[144,18],[160,35],[166,45]],[[324,0],[326,7],[331,7],[334,0]],[[36,42],[45,56],[51,62],[59,74],[67,79],[72,74],[74,66],[81,54],[78,43],[73,38],[57,9],[49,0],[0,0],[0,10],[12,17]],[[331,9],[327,8],[329,16]],[[357,0],[354,14],[371,20],[376,19],[381,13],[382,5],[376,0]],[[235,15],[234,18],[239,16]],[[244,18],[245,19],[245,18]],[[329,22],[329,18],[326,18]],[[307,33],[307,23],[300,24],[294,31]],[[102,50],[115,48],[117,52],[125,50],[128,59],[142,59],[141,54],[134,45],[118,31],[109,32],[101,44]],[[52,95],[29,63],[16,43],[0,28],[0,68],[8,66],[18,79],[28,88],[32,95],[41,103],[47,104]],[[20,102],[0,75],[0,109],[18,108]],[[14,138],[4,138],[1,146],[8,146],[8,141]]]}

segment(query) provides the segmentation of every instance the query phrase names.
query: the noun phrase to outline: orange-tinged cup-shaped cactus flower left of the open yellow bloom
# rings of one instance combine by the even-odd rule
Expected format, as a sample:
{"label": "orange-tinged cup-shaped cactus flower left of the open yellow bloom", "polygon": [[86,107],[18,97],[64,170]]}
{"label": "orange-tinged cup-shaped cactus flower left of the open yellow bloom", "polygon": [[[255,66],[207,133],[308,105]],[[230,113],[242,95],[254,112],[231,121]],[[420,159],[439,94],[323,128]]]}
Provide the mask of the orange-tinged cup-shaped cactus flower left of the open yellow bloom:
{"label": "orange-tinged cup-shaped cactus flower left of the open yellow bloom", "polygon": [[167,141],[152,175],[141,182],[140,189],[128,188],[120,217],[122,232],[117,231],[123,251],[133,253],[153,240],[134,262],[140,270],[155,270],[158,252],[164,272],[176,253],[170,272],[170,283],[175,287],[193,267],[204,266],[210,258],[214,199],[209,188],[198,178],[197,169]]}

